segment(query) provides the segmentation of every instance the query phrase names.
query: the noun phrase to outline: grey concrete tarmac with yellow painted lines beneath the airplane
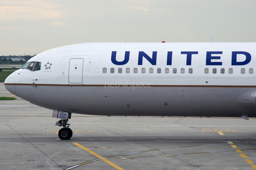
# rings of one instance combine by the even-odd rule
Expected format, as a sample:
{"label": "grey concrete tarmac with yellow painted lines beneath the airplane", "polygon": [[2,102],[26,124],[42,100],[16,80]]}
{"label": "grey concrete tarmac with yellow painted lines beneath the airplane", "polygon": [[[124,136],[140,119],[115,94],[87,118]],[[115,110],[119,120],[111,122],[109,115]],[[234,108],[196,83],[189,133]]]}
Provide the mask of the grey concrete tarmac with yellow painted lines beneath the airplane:
{"label": "grey concrete tarmac with yellow painted lines beneath the airplane", "polygon": [[[0,83],[0,97],[12,96]],[[256,120],[72,114],[0,101],[0,169],[256,169]]]}

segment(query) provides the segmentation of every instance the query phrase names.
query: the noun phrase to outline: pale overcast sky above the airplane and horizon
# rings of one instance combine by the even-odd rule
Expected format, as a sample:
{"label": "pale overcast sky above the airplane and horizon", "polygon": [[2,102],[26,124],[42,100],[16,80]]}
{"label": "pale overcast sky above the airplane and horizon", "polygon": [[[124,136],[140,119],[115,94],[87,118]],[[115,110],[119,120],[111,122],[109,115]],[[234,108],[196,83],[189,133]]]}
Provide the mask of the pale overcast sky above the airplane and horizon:
{"label": "pale overcast sky above the airplane and horizon", "polygon": [[91,42],[255,42],[255,0],[0,0],[0,56]]}

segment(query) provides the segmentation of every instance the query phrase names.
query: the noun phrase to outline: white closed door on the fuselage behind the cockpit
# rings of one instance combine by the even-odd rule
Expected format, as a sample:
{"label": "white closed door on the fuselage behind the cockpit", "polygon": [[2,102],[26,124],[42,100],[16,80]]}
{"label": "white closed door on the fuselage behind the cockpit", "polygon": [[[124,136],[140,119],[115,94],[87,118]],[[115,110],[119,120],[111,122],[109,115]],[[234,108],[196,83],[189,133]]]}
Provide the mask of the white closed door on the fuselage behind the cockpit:
{"label": "white closed door on the fuselage behind the cockpit", "polygon": [[83,58],[70,58],[69,60],[69,83],[83,83]]}

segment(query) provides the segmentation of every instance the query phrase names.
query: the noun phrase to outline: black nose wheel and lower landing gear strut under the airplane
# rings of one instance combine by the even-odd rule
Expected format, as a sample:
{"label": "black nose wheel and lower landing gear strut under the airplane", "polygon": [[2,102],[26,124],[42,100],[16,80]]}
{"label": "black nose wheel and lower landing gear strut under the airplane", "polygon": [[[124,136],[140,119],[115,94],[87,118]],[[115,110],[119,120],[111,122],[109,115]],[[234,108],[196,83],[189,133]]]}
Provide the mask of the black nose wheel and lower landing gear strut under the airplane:
{"label": "black nose wheel and lower landing gear strut under the airplane", "polygon": [[62,119],[62,120],[56,122],[56,124],[55,124],[57,126],[63,126],[63,128],[60,129],[59,133],[58,133],[59,138],[61,140],[70,139],[72,137],[72,135],[73,135],[72,130],[69,128],[70,124],[68,124],[67,122],[68,122],[68,119],[67,120]]}

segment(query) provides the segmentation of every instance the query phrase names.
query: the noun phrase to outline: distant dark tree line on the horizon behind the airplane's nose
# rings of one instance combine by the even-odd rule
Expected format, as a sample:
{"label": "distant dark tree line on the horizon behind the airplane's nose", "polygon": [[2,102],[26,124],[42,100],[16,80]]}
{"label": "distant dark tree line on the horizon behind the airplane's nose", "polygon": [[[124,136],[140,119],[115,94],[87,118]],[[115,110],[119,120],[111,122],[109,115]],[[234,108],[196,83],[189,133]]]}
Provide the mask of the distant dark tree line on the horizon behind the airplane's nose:
{"label": "distant dark tree line on the horizon behind the airplane's nose", "polygon": [[[0,64],[24,64],[26,63],[30,58],[34,57],[30,55],[25,56],[16,56],[16,55],[9,55],[9,56],[0,56]],[[17,58],[20,58],[20,60]]]}

